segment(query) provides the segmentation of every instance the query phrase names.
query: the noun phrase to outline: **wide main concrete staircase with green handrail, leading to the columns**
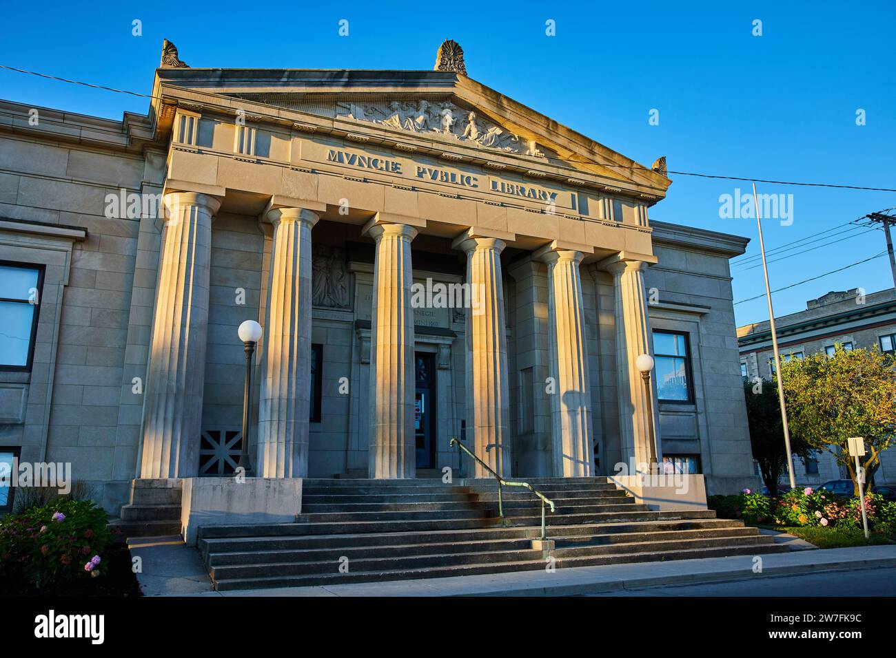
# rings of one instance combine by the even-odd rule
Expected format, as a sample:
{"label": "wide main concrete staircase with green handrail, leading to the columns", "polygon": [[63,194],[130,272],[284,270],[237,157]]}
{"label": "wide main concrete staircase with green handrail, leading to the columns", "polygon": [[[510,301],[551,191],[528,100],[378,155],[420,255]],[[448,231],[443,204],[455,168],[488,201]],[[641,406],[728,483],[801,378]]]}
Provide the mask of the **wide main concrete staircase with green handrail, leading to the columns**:
{"label": "wide main concrete staircase with green handrail, leading to the columns", "polygon": [[788,550],[711,510],[650,511],[607,478],[528,482],[556,503],[544,546],[540,501],[505,487],[502,523],[495,480],[306,480],[297,523],[204,526],[198,545],[217,590]]}

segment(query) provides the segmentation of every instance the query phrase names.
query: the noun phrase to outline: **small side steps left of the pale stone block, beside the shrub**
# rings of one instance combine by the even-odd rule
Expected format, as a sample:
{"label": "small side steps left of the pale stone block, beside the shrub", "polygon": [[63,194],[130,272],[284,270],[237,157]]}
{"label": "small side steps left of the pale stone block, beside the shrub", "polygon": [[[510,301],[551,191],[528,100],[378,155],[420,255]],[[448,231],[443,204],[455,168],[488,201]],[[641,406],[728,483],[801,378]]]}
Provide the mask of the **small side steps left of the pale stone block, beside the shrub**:
{"label": "small side steps left of the pale stone block, beside the shrub", "polygon": [[180,534],[181,482],[142,479],[131,482],[131,502],[109,523],[121,541],[127,537]]}

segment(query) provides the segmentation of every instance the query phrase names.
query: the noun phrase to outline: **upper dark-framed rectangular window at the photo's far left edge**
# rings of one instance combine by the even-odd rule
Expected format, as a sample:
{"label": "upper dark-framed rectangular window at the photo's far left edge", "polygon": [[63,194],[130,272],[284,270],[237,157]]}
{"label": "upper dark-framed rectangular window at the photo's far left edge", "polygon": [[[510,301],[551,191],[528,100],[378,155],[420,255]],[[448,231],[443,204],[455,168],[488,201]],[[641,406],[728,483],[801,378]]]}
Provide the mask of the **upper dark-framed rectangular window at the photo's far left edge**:
{"label": "upper dark-framed rectangular window at the photo's far left edge", "polygon": [[31,369],[43,283],[43,266],[0,261],[0,370]]}

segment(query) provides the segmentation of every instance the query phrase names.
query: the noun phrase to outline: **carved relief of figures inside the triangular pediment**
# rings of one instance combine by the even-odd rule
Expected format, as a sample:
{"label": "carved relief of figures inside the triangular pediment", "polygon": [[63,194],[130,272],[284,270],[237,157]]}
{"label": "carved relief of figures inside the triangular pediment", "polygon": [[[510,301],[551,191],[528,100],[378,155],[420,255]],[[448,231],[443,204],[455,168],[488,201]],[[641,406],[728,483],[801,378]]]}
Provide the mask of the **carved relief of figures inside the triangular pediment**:
{"label": "carved relief of figures inside the triangular pediment", "polygon": [[426,99],[392,100],[388,103],[337,101],[336,116],[380,124],[392,130],[439,135],[487,149],[547,158],[537,141],[508,132],[475,110],[458,107],[449,100],[430,103]]}

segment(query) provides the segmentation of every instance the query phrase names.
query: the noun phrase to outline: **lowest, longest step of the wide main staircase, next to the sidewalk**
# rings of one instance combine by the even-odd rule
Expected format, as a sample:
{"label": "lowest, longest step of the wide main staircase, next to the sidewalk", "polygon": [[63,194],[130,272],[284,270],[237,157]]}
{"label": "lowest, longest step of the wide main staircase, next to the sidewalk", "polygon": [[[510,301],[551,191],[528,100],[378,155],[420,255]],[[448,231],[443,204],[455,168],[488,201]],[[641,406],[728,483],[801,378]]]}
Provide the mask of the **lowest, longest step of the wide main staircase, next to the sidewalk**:
{"label": "lowest, longest step of the wide main staircase, next to the sidewalk", "polygon": [[[557,568],[584,567],[599,564],[620,564],[656,560],[691,560],[700,558],[728,557],[732,555],[755,555],[761,553],[788,551],[780,544],[748,544],[745,546],[720,546],[710,548],[682,549],[678,551],[655,551],[599,555],[583,558],[556,560]],[[540,551],[538,551],[540,552]],[[349,568],[350,568],[349,562]],[[336,585],[339,583],[379,582],[408,580],[415,578],[471,576],[475,574],[501,573],[508,571],[534,570],[545,568],[545,560],[517,560],[461,564],[443,567],[392,568],[373,571],[349,571],[348,573],[319,573],[313,575],[276,575],[266,577],[226,578],[211,574],[215,589],[219,591],[266,588],[296,587],[304,585]],[[266,565],[270,566],[270,565]]]}

